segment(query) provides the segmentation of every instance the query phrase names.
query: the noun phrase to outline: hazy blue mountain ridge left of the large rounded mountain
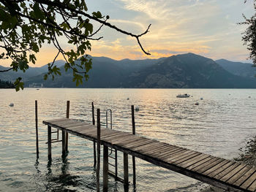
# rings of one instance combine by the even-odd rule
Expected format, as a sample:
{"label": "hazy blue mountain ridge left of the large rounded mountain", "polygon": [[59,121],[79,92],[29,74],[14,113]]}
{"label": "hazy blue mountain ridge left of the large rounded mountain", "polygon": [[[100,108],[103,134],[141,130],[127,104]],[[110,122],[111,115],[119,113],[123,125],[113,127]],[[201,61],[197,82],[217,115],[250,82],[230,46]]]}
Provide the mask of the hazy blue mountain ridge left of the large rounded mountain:
{"label": "hazy blue mountain ridge left of the large rounded mountain", "polygon": [[[124,79],[132,72],[140,71],[148,66],[151,66],[163,58],[159,59],[146,59],[146,60],[129,60],[124,59],[116,61],[111,58],[105,57],[91,57],[92,69],[89,71],[89,80],[83,85],[82,88],[121,88],[124,87]],[[64,71],[64,66],[61,68],[61,76],[56,77],[54,81],[48,79],[42,80],[40,77],[31,77],[26,85],[37,83],[45,87],[76,87],[75,82],[72,82],[72,71]]]}

